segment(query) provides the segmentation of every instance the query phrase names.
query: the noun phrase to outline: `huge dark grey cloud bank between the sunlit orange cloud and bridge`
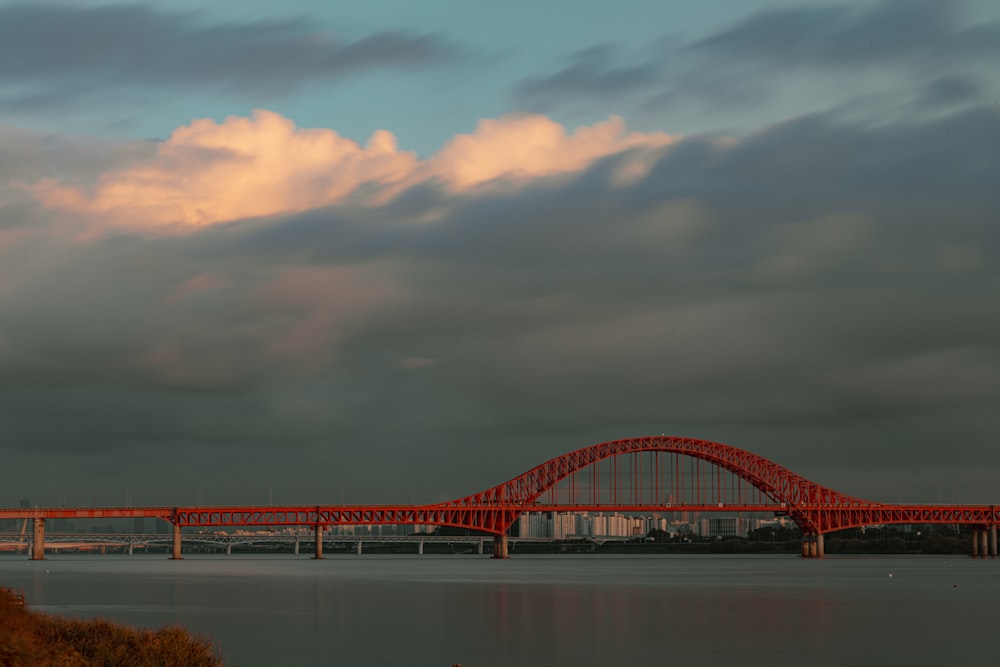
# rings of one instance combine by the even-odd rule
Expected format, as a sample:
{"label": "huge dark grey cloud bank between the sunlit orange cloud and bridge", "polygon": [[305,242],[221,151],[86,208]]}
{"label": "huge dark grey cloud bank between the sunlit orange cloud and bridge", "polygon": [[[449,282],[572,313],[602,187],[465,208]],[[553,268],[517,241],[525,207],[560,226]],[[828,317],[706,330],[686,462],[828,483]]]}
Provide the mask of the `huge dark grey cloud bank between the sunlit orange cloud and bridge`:
{"label": "huge dark grey cloud bank between the sunlit orange cloud and bridge", "polygon": [[175,477],[134,502],[435,500],[654,432],[988,501],[998,144],[994,109],[816,115],[624,183],[618,155],[183,237],[0,236],[0,442],[109,489]]}

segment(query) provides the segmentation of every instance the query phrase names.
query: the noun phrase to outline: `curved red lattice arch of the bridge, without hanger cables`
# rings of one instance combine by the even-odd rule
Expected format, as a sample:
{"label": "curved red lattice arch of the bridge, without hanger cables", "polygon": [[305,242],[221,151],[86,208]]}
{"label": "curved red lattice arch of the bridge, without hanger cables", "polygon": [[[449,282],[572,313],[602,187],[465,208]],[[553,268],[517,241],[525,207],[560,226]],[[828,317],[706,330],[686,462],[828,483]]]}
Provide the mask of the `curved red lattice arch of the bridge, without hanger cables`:
{"label": "curved red lattice arch of the bridge, without hanger cables", "polygon": [[641,452],[667,452],[701,459],[728,470],[780,503],[803,532],[817,533],[822,527],[808,508],[815,506],[867,508],[870,501],[848,496],[816,484],[763,456],[709,440],[675,436],[627,438],[590,445],[541,463],[531,470],[492,488],[444,503],[454,509],[494,508],[491,532],[505,532],[545,492],[573,473],[605,459]]}

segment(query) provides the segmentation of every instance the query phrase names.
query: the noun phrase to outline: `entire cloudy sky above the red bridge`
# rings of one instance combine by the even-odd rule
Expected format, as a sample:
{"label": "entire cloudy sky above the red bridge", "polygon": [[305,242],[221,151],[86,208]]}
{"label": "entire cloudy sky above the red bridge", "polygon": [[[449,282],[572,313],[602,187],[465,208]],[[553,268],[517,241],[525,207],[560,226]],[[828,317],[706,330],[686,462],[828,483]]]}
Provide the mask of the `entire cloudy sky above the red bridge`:
{"label": "entire cloudy sky above the red bridge", "polygon": [[991,0],[0,0],[0,506],[654,433],[1000,502],[998,62]]}

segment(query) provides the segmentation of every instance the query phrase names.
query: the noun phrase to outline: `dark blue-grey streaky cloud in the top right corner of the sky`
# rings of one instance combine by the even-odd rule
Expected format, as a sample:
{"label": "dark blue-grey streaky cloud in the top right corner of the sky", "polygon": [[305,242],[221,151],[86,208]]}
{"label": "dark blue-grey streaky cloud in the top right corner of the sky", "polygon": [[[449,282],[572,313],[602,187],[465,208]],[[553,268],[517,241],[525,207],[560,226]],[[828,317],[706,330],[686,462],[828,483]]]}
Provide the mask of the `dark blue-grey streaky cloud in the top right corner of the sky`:
{"label": "dark blue-grey streaky cloud in the top right corner of the sky", "polygon": [[860,99],[888,90],[892,108],[873,106],[869,117],[913,118],[928,105],[973,106],[1000,90],[992,67],[1000,21],[966,20],[968,9],[933,0],[765,9],[705,36],[582,51],[517,82],[512,94],[534,109],[602,108],[610,98],[648,117],[671,113],[681,125],[701,128],[710,118],[742,128],[762,109],[769,118],[845,106],[857,115]]}

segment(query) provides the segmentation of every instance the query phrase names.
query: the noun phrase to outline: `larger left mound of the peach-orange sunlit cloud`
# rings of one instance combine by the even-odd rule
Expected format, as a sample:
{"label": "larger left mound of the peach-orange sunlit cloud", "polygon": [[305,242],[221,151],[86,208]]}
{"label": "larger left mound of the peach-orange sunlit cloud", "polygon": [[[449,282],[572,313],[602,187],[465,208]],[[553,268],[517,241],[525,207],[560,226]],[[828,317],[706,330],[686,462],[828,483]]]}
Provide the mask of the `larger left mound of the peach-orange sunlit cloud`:
{"label": "larger left mound of the peach-orange sunlit cloud", "polygon": [[105,174],[92,193],[53,180],[33,189],[48,207],[97,214],[117,226],[201,227],[329,204],[362,183],[399,181],[416,163],[387,132],[362,146],[257,111],[178,128],[155,156]]}

